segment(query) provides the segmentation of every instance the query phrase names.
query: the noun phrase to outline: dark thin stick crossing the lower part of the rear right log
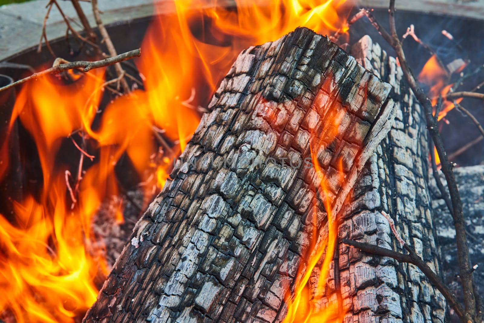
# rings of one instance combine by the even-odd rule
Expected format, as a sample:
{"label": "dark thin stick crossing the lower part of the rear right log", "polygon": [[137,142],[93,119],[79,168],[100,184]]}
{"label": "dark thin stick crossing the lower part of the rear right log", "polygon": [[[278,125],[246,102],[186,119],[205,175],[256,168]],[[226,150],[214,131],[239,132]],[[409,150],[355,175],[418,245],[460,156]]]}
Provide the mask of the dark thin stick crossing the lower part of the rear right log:
{"label": "dark thin stick crossing the lower part of the rear right log", "polygon": [[414,264],[423,272],[425,277],[427,277],[430,280],[430,282],[434,284],[435,287],[437,287],[439,292],[442,293],[445,299],[449,302],[450,307],[454,309],[455,314],[457,314],[457,316],[463,322],[467,322],[467,319],[464,316],[464,309],[459,304],[454,294],[442,282],[440,277],[436,273],[434,273],[434,271],[415,252],[409,251],[409,254],[405,255],[403,253],[396,252],[390,249],[382,248],[375,245],[368,245],[368,244],[353,241],[353,240],[341,239],[341,242],[344,243],[345,245],[356,247],[370,254],[383,256],[383,257],[390,257],[398,262],[407,262],[407,263]]}

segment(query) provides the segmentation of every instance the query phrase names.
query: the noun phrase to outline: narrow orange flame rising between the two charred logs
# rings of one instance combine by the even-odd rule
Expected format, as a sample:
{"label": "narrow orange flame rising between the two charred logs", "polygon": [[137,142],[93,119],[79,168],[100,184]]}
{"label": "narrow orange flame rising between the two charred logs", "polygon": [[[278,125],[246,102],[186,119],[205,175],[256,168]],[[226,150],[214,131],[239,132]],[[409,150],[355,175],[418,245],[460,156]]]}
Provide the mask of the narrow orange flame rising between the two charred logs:
{"label": "narrow orange flame rising between the two charred logs", "polygon": [[[321,95],[323,92],[319,92]],[[323,94],[325,95],[325,94]],[[316,98],[315,102],[318,102]],[[345,169],[343,166],[343,160],[341,157],[337,158],[335,163],[330,163],[329,167],[335,167],[333,175],[328,175],[327,171],[323,170],[319,160],[318,153],[325,150],[334,140],[337,140],[338,130],[340,122],[344,117],[344,110],[339,111],[335,107],[317,107],[319,109],[329,109],[327,112],[327,120],[332,121],[325,127],[322,134],[318,134],[316,138],[318,140],[312,143],[310,146],[311,160],[318,176],[318,182],[320,183],[316,187],[319,199],[324,205],[324,210],[327,215],[327,233],[317,232],[316,223],[313,224],[313,232],[311,235],[310,245],[306,250],[306,256],[303,258],[304,265],[299,265],[297,284],[294,290],[294,297],[290,293],[286,295],[286,302],[288,304],[287,316],[284,323],[292,322],[343,322],[346,314],[341,300],[341,291],[335,290],[333,295],[336,295],[336,299],[330,299],[330,288],[328,286],[328,277],[330,277],[331,263],[333,261],[336,241],[338,238],[339,222],[337,214],[333,211],[333,199],[335,197],[333,190],[334,187],[341,186],[345,181]],[[333,166],[331,166],[333,165]],[[333,187],[333,189],[331,188]],[[313,203],[313,221],[318,217],[317,203]],[[308,281],[313,273],[318,262],[321,262],[320,268],[318,268],[319,276],[316,291],[313,295],[308,295]],[[337,265],[337,264],[334,264]],[[325,295],[330,302],[324,307],[318,306],[318,301],[321,301],[316,295]],[[313,296],[313,297],[311,297]]]}

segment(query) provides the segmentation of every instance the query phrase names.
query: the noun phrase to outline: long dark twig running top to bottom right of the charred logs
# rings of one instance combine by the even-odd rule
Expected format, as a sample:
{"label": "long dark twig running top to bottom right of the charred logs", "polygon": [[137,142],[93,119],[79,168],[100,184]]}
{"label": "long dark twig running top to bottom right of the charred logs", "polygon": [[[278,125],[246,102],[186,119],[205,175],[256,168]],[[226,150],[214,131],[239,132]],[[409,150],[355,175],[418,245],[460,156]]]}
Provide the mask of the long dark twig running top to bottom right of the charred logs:
{"label": "long dark twig running top to bottom right of the charred logs", "polygon": [[444,144],[442,138],[439,134],[439,128],[437,126],[437,121],[432,114],[432,103],[423,90],[418,85],[413,73],[408,66],[408,62],[405,59],[405,53],[402,49],[402,44],[398,38],[395,26],[395,0],[390,0],[389,7],[389,20],[390,20],[390,31],[392,35],[390,36],[387,31],[382,28],[379,29],[380,34],[386,34],[385,39],[390,39],[390,45],[395,50],[398,61],[402,68],[405,79],[408,85],[415,94],[417,100],[425,109],[425,119],[427,121],[427,128],[429,130],[430,136],[434,141],[437,153],[440,157],[440,165],[442,167],[442,172],[445,175],[447,181],[447,187],[449,189],[449,194],[451,196],[452,207],[453,207],[453,217],[455,226],[455,238],[457,243],[457,255],[459,261],[459,275],[461,277],[462,289],[464,291],[464,305],[466,310],[466,318],[475,322],[476,319],[476,304],[473,290],[473,279],[472,271],[469,261],[469,248],[467,245],[466,238],[466,227],[464,221],[464,215],[462,212],[462,202],[460,200],[459,190],[457,189],[457,183],[455,182],[453,166],[447,158],[447,153],[445,152]]}

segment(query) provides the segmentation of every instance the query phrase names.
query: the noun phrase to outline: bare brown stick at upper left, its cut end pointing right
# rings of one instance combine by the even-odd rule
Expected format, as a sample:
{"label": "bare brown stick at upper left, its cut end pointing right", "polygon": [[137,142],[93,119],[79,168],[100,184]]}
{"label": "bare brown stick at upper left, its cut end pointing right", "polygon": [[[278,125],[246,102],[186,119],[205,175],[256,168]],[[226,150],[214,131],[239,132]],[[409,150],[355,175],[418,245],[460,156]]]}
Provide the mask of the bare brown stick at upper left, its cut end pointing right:
{"label": "bare brown stick at upper left, its cut end pointing right", "polygon": [[69,62],[69,63],[64,63],[64,64],[59,64],[54,67],[51,67],[49,69],[46,69],[42,72],[34,73],[30,75],[29,77],[22,78],[12,84],[9,84],[7,86],[4,86],[0,88],[0,92],[8,90],[10,88],[13,88],[14,86],[17,86],[19,84],[25,83],[31,79],[36,79],[39,77],[42,77],[47,74],[56,74],[59,72],[67,71],[67,70],[73,70],[73,69],[80,69],[82,72],[89,72],[91,69],[94,68],[99,68],[99,67],[105,67],[109,65],[113,65],[122,61],[130,60],[134,57],[139,57],[141,55],[141,49],[135,49],[131,50],[129,52],[120,54],[115,57],[109,57],[101,61],[94,61],[94,62],[88,62],[88,61],[77,61],[77,62]]}

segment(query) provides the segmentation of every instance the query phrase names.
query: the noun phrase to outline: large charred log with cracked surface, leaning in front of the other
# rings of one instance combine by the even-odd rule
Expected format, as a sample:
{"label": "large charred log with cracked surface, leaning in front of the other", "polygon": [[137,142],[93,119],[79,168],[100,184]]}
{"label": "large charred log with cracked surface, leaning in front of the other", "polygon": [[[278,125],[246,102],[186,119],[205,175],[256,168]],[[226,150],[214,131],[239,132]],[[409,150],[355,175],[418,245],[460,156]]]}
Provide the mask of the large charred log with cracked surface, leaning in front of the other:
{"label": "large charred log with cracked surface, leaning in front of the other", "polygon": [[305,28],[244,50],[84,322],[283,320],[327,226],[310,145],[337,213],[390,130],[390,89]]}

